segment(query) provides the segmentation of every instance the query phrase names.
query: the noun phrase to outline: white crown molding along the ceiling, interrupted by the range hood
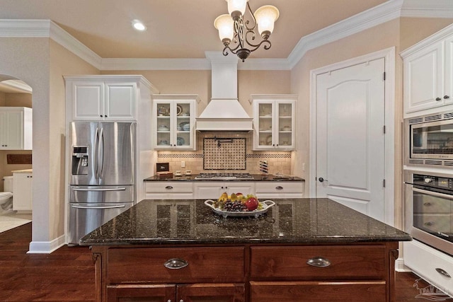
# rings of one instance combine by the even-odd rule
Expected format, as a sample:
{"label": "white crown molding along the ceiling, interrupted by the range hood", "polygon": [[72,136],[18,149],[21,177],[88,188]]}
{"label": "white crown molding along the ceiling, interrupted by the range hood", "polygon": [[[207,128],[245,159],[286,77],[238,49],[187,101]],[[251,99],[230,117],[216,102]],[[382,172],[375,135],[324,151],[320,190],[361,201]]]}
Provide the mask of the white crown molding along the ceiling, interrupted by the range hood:
{"label": "white crown molding along the ceiling, interrupted by the range hood", "polygon": [[[389,0],[355,16],[302,37],[286,59],[253,59],[239,70],[291,70],[304,54],[399,17],[453,18],[452,0]],[[209,59],[103,59],[50,20],[0,19],[0,37],[50,37],[99,70],[207,70]]]}

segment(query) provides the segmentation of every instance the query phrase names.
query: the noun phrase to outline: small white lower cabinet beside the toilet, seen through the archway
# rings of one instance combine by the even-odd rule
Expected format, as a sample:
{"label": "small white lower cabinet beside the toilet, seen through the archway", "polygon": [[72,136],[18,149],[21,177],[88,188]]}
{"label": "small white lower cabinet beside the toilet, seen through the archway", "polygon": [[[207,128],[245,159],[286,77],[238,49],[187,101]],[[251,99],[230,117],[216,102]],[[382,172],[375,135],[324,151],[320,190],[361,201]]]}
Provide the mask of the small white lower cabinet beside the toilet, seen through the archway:
{"label": "small white lower cabinet beside the toilet, seen through the archway", "polygon": [[33,201],[32,173],[13,173],[13,210],[31,211]]}

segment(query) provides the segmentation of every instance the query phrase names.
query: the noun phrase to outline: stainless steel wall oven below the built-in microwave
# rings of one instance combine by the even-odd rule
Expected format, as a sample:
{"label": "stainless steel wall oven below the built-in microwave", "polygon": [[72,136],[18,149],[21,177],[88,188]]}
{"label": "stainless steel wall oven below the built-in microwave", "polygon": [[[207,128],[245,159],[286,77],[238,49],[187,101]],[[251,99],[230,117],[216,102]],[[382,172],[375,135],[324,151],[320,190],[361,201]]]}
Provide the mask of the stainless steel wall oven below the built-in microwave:
{"label": "stainless steel wall oven below the built-in microwave", "polygon": [[453,255],[453,175],[404,172],[405,228],[432,248]]}

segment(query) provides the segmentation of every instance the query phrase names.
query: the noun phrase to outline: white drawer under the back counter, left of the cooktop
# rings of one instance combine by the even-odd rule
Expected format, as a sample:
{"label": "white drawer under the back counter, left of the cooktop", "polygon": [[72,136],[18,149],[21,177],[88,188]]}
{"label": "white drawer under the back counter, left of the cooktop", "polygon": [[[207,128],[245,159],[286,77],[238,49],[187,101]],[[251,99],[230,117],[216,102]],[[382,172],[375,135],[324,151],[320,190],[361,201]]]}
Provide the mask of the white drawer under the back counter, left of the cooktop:
{"label": "white drawer under the back counter, left of the cooktop", "polygon": [[147,199],[193,199],[193,182],[151,181],[145,182]]}

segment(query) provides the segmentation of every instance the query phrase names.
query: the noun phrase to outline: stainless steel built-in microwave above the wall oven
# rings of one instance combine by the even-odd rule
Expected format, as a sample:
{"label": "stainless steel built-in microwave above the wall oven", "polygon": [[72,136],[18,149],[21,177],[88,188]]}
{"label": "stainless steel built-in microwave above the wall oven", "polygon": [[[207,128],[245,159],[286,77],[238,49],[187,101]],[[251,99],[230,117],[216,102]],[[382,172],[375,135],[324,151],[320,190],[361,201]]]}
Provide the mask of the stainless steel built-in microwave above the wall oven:
{"label": "stainless steel built-in microwave above the wall oven", "polygon": [[404,120],[405,164],[453,168],[453,112]]}

